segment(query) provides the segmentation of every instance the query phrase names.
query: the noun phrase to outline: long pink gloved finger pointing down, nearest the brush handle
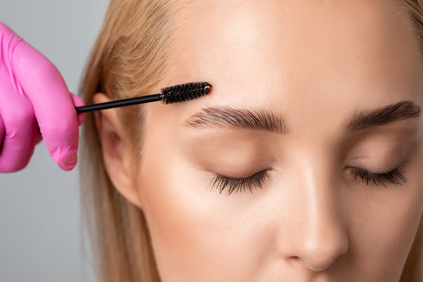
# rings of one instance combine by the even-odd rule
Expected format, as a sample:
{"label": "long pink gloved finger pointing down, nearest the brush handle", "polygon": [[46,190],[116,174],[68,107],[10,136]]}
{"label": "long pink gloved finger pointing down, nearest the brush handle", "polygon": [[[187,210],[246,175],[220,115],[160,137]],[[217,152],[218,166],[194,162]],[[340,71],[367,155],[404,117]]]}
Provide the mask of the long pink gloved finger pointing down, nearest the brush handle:
{"label": "long pink gloved finger pointing down, nearest the brush handle", "polygon": [[63,170],[77,162],[79,122],[73,99],[58,69],[24,40],[13,52],[13,66],[33,104],[47,151]]}

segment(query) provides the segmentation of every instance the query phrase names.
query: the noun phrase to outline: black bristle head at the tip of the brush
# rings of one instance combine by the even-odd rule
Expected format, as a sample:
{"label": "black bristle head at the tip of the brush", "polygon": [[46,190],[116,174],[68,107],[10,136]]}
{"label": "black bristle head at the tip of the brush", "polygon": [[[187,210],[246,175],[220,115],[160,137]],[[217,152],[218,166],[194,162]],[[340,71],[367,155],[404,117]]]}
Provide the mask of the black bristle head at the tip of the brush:
{"label": "black bristle head at the tip of the brush", "polygon": [[207,95],[210,88],[209,82],[189,82],[162,88],[159,94],[162,104],[172,104]]}

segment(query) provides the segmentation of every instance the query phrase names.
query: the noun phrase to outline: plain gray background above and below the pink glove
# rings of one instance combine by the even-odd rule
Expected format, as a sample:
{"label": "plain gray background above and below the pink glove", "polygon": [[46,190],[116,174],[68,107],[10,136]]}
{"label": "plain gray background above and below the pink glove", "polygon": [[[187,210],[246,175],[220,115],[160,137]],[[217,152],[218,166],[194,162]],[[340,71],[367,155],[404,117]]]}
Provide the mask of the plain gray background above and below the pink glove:
{"label": "plain gray background above and below the pink glove", "polygon": [[[0,21],[41,51],[77,93],[108,0],[0,0]],[[78,164],[65,172],[44,142],[25,169],[0,174],[0,282],[95,281],[82,260]]]}

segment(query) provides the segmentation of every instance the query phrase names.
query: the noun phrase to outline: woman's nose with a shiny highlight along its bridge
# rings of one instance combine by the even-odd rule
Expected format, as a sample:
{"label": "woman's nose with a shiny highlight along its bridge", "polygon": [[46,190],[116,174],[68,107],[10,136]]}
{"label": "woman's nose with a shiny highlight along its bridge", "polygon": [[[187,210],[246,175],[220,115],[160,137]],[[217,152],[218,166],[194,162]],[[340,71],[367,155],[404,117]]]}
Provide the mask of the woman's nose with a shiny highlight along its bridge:
{"label": "woman's nose with a shiny highlight along its bridge", "polygon": [[321,271],[346,252],[348,240],[341,205],[337,202],[338,189],[332,181],[332,164],[321,154],[313,155],[292,168],[297,171],[292,171],[297,175],[293,183],[297,192],[288,205],[290,211],[285,211],[290,216],[279,239],[286,260],[299,258],[312,270]]}

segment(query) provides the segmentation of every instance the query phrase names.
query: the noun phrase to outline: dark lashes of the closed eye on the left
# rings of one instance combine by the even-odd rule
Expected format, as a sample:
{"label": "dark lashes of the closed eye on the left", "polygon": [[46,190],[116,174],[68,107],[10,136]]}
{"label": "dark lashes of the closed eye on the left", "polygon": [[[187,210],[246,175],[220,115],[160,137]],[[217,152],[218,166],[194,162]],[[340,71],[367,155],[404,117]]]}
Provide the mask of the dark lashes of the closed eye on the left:
{"label": "dark lashes of the closed eye on the left", "polygon": [[[241,192],[242,192],[242,187],[244,187],[244,192],[245,192],[245,186],[247,186],[247,189],[250,190],[251,193],[253,193],[253,191],[251,190],[251,185],[253,185],[255,187],[255,189],[257,189],[257,187],[260,187],[260,189],[263,189],[261,187],[261,181],[266,180],[266,178],[268,178],[269,175],[267,174],[267,170],[262,170],[260,172],[257,172],[247,178],[229,178],[226,176],[221,176],[221,175],[215,175],[211,181],[209,182],[209,184],[207,185],[206,189],[209,187],[209,185],[213,182],[213,184],[210,187],[211,188],[214,186],[214,184],[217,183],[216,189],[217,187],[219,187],[219,194],[222,193],[223,189],[225,189],[225,187],[229,184],[229,189],[228,189],[228,195],[230,195],[235,189],[236,192],[238,192],[238,190],[241,188]],[[235,193],[236,193],[235,192]]]}

